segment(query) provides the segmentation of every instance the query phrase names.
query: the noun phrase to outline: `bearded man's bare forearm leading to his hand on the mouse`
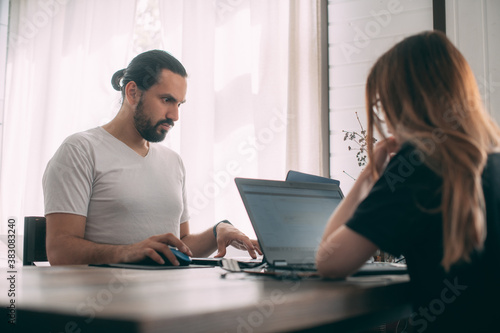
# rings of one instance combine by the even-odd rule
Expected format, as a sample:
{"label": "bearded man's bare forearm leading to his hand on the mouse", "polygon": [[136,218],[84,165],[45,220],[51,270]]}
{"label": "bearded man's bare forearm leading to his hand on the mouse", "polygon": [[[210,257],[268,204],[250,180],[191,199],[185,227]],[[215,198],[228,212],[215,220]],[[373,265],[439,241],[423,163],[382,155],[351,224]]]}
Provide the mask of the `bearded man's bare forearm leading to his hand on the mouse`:
{"label": "bearded man's bare forearm leading to his hand on the mouse", "polygon": [[47,242],[51,265],[109,264],[126,261],[127,245],[98,244],[75,236],[59,236]]}

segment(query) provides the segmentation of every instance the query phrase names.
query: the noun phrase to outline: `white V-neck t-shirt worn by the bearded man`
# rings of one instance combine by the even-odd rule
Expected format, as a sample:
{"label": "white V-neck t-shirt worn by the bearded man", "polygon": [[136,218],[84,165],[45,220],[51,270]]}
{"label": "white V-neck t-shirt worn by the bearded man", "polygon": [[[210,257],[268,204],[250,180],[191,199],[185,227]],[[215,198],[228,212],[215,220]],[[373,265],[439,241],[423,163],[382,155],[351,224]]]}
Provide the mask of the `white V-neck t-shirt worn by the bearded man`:
{"label": "white V-neck t-shirt worn by the bearded man", "polygon": [[164,233],[180,234],[189,220],[180,156],[150,143],[140,156],[97,127],[68,137],[43,176],[45,215],[87,217],[85,239],[132,244]]}

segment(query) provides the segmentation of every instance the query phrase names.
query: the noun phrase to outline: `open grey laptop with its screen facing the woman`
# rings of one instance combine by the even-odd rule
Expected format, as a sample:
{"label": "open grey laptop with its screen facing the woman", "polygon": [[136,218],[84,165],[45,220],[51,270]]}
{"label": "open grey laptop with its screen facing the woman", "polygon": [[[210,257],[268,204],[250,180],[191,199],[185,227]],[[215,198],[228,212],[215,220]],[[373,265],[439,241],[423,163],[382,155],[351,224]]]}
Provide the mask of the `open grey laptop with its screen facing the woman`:
{"label": "open grey laptop with its screen facing the woman", "polygon": [[[326,224],[344,198],[337,183],[235,178],[264,261],[275,269],[315,271]],[[406,273],[405,265],[365,264],[357,275]]]}

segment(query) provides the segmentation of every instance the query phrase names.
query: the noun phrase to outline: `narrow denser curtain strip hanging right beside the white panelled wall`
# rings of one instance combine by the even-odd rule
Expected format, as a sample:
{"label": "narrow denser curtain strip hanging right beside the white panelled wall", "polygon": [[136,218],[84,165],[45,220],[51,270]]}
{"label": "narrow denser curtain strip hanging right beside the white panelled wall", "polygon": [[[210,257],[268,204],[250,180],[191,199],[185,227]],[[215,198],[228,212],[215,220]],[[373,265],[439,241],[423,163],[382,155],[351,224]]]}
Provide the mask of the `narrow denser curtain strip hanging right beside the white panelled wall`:
{"label": "narrow denser curtain strip hanging right beside the white panelled wall", "polygon": [[324,89],[328,87],[322,86],[328,86],[328,73],[323,67],[328,59],[321,58],[327,54],[322,52],[322,47],[326,47],[322,45],[322,35],[326,31],[321,30],[323,22],[320,22],[321,10],[326,8],[320,2],[290,3],[287,166],[328,176],[325,171],[329,159],[329,145],[325,142],[328,134],[323,131],[329,129],[328,124],[320,124],[325,119],[323,113],[328,112],[323,96],[328,94]]}

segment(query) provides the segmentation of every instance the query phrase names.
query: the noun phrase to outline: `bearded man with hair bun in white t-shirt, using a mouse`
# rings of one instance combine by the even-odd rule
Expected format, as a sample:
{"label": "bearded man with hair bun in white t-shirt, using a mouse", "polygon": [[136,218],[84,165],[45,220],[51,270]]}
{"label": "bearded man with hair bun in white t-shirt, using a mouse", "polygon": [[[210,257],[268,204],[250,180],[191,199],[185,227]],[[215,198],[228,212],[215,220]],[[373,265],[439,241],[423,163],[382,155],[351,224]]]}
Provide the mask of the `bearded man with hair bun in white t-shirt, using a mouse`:
{"label": "bearded man with hair bun in white t-shirt, using a mouse", "polygon": [[47,256],[52,265],[137,262],[168,245],[196,257],[226,247],[261,254],[255,240],[222,221],[189,232],[185,170],[162,141],[179,118],[187,82],[182,64],[152,50],[113,75],[122,106],[108,124],[67,138],[43,177]]}

